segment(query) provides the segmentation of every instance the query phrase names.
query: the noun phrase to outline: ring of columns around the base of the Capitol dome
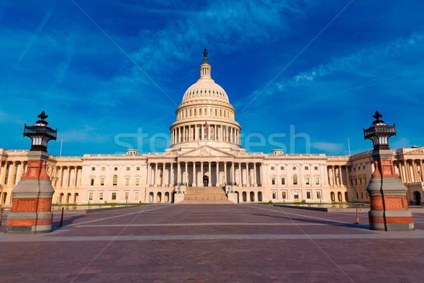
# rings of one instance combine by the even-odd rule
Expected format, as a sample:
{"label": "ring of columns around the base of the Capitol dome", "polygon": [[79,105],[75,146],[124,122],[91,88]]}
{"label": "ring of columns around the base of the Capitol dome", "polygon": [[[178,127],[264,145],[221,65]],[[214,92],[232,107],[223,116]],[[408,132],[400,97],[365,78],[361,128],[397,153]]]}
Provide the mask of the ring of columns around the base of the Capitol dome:
{"label": "ring of columns around the base of the Capitol dome", "polygon": [[240,129],[218,124],[185,125],[171,130],[171,144],[183,141],[228,141],[241,144]]}

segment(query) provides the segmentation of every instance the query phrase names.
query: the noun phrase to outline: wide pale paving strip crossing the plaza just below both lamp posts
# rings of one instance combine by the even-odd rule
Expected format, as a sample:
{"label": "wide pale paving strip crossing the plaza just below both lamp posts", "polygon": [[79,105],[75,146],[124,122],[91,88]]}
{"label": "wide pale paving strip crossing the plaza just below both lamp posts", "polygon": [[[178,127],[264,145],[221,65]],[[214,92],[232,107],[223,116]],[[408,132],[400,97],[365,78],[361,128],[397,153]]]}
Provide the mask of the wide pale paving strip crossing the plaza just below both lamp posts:
{"label": "wide pale paving strip crossing the plaza just below both lamp posts", "polygon": [[359,239],[424,239],[424,230],[415,232],[372,234],[225,234],[225,235],[147,235],[147,236],[54,236],[54,237],[0,237],[0,243],[11,242],[68,242],[68,241],[225,241],[225,240],[359,240]]}

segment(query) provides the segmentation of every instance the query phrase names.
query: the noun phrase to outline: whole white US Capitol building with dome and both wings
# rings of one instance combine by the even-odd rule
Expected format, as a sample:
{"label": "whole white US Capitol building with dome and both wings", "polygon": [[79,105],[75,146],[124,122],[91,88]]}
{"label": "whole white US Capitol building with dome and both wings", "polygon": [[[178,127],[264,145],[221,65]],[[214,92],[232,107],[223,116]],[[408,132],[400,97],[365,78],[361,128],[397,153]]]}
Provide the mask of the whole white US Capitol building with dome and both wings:
{"label": "whole white US Capitol building with dome and both wings", "polygon": [[[184,93],[165,152],[49,156],[53,204],[139,202],[368,202],[372,151],[354,156],[250,153],[227,93],[211,77],[206,58],[200,78]],[[207,121],[207,123],[205,122]],[[423,200],[424,147],[392,150],[408,201]],[[27,167],[26,150],[0,149],[0,204]],[[217,197],[218,196],[218,197]]]}

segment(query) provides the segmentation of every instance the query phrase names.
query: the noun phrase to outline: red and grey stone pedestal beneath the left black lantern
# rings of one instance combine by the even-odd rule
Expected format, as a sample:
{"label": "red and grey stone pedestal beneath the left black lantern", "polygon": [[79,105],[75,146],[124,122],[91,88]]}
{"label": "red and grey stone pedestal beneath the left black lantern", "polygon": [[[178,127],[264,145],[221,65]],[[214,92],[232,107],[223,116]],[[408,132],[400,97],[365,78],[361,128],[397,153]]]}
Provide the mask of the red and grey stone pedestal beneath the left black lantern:
{"label": "red and grey stone pedestal beneath the left black lantern", "polygon": [[6,233],[46,233],[52,231],[52,196],[54,189],[46,172],[49,154],[28,153],[28,169],[13,189],[11,214]]}

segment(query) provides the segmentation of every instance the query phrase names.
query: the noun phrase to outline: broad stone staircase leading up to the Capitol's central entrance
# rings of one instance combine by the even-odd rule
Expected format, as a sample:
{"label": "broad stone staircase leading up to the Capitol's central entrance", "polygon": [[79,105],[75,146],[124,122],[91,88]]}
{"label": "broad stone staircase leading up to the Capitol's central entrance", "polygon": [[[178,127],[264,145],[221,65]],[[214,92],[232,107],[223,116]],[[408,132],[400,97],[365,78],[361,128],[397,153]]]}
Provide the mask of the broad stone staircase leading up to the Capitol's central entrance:
{"label": "broad stone staircase leading up to the Capitol's central entrance", "polygon": [[221,187],[187,187],[181,204],[228,204],[224,190]]}

